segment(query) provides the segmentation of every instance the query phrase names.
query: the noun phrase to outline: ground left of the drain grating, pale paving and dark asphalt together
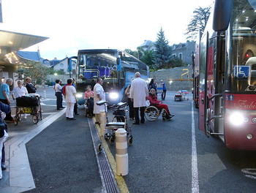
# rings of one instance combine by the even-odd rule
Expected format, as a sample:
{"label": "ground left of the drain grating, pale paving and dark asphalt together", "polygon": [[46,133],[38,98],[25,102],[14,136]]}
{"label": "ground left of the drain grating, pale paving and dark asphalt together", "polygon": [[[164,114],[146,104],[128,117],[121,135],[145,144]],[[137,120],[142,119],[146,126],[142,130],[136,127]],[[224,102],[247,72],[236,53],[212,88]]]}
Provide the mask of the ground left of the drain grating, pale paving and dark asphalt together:
{"label": "ground left of the drain grating, pale paving and dark asphalt together", "polygon": [[7,170],[3,171],[0,192],[102,192],[83,108],[78,109],[76,121],[66,120],[66,109],[56,110],[53,88],[38,89],[37,93],[42,96],[43,91],[47,98],[41,99],[42,121],[33,124],[29,116],[17,126],[8,124]]}

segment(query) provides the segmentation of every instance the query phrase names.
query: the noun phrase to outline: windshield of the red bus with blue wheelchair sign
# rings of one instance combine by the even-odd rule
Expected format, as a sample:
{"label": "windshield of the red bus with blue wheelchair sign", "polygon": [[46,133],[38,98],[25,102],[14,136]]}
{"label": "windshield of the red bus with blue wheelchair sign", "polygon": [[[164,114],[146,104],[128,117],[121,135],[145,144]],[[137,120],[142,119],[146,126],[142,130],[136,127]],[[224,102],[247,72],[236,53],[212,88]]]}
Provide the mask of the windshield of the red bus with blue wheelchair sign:
{"label": "windshield of the red bus with blue wheelchair sign", "polygon": [[235,0],[233,6],[231,89],[256,91],[256,0]]}

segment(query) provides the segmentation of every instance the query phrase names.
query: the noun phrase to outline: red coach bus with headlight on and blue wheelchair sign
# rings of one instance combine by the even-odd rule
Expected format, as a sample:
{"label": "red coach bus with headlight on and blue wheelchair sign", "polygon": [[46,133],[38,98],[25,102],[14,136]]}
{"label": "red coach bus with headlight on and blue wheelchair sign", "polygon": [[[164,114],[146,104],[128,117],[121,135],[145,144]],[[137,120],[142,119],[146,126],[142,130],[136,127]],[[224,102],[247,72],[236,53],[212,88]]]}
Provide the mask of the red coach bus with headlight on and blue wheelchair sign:
{"label": "red coach bus with headlight on and blue wheelchair sign", "polygon": [[256,150],[256,0],[216,0],[193,57],[199,129]]}

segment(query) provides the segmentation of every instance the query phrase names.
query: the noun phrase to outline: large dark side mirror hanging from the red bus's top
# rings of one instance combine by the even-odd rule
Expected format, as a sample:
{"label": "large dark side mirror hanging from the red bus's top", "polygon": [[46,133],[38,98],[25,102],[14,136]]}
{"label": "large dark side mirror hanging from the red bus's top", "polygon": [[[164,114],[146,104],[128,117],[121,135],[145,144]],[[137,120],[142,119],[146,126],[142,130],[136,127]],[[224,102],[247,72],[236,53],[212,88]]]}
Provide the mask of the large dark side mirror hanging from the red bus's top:
{"label": "large dark side mirror hanging from the red bus's top", "polygon": [[216,0],[214,4],[214,31],[225,31],[230,23],[232,0]]}

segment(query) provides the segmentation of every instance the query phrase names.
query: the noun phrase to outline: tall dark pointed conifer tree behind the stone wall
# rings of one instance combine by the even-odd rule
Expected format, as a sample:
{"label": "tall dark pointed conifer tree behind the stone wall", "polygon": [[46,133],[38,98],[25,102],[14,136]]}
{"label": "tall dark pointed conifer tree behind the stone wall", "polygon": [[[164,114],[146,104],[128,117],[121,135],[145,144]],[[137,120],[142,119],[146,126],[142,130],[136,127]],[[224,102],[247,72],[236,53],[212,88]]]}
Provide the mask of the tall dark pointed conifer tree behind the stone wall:
{"label": "tall dark pointed conifer tree behind the stone wall", "polygon": [[157,34],[156,50],[154,51],[154,63],[156,67],[165,64],[170,61],[171,48],[167,39],[165,39],[165,32],[162,31],[162,27]]}

